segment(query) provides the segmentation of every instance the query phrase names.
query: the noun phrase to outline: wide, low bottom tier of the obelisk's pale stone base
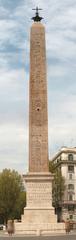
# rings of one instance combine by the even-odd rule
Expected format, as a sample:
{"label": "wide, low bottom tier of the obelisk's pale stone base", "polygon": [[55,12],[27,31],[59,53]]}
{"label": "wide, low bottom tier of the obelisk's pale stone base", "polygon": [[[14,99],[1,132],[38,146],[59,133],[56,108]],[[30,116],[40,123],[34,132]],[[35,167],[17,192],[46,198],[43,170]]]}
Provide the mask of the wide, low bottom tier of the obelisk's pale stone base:
{"label": "wide, low bottom tier of the obelisk's pale stone base", "polygon": [[16,234],[25,234],[31,236],[48,236],[51,234],[62,234],[65,233],[65,224],[64,223],[34,223],[28,224],[21,222],[15,223],[15,233]]}

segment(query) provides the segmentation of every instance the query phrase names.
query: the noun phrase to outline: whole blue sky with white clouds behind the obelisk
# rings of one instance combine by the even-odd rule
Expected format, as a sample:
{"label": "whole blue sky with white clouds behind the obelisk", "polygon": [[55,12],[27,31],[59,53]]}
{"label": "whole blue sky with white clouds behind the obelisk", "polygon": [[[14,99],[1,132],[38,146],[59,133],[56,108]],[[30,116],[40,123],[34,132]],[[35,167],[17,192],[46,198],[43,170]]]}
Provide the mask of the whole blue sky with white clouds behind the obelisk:
{"label": "whole blue sky with white clouds behind the obelisk", "polygon": [[0,171],[28,171],[32,8],[46,31],[49,159],[76,147],[76,0],[0,0]]}

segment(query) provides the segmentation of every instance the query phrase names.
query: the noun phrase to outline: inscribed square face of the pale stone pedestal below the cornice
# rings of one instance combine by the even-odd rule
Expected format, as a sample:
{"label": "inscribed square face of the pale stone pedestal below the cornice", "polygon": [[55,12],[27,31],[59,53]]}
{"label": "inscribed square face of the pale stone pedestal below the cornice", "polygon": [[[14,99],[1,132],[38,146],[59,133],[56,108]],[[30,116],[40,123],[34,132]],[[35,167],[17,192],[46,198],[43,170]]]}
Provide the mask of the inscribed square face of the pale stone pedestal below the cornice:
{"label": "inscribed square face of the pale stone pedestal below the cornice", "polygon": [[51,183],[29,182],[27,183],[28,207],[51,207]]}

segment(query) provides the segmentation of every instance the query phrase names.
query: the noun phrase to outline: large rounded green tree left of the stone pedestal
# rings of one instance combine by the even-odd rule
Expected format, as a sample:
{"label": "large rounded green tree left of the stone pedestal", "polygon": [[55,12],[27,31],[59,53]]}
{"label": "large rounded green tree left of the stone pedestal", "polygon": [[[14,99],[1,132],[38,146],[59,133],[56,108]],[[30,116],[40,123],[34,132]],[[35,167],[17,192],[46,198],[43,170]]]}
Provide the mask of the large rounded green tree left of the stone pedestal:
{"label": "large rounded green tree left of the stone pedestal", "polygon": [[15,170],[4,169],[0,173],[0,216],[8,219],[20,217],[26,204],[25,189],[21,175]]}

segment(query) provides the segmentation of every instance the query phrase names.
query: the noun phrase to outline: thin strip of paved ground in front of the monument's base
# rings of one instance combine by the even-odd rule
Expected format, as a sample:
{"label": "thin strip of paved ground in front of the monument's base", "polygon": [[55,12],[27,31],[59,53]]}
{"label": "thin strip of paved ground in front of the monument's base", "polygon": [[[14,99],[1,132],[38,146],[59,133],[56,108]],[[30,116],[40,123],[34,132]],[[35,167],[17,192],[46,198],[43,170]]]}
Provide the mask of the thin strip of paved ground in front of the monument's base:
{"label": "thin strip of paved ground in front of the monument's base", "polygon": [[0,240],[76,240],[76,234],[69,234],[63,236],[49,236],[49,237],[18,237],[18,236],[0,236]]}

